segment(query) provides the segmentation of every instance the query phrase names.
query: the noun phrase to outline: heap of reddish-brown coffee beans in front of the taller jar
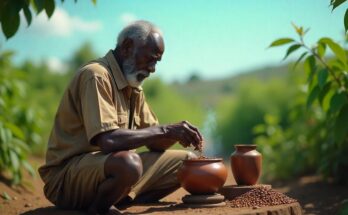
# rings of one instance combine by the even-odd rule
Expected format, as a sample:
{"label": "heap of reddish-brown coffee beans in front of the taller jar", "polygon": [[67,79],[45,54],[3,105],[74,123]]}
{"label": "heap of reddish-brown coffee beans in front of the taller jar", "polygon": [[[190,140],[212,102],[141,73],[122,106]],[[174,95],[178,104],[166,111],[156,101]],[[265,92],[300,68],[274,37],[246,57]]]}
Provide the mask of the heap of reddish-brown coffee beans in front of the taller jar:
{"label": "heap of reddish-brown coffee beans in front of the taller jar", "polygon": [[227,202],[227,204],[233,208],[258,208],[264,206],[290,204],[294,202],[297,201],[276,190],[267,187],[258,187],[232,199],[231,201]]}

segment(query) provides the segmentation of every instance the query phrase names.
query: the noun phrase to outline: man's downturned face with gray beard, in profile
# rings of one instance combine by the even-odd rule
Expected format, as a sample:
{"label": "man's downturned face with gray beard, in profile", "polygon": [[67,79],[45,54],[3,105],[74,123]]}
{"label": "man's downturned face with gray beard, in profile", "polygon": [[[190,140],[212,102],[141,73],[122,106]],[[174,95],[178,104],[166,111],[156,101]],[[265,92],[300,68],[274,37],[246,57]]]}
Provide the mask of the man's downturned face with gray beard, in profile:
{"label": "man's downturned face with gray beard, in profile", "polygon": [[155,72],[156,63],[161,60],[164,43],[158,33],[151,34],[147,43],[134,47],[133,54],[123,61],[123,72],[131,87],[139,87],[143,81]]}

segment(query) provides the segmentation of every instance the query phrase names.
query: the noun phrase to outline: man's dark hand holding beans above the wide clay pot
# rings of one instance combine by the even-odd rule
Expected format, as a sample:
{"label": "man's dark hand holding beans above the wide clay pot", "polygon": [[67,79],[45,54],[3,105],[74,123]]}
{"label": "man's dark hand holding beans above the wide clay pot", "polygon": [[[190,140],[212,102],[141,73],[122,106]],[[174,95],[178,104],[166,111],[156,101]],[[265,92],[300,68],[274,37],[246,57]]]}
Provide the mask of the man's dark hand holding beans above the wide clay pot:
{"label": "man's dark hand holding beans above the wide clay pot", "polygon": [[202,148],[203,138],[198,129],[188,121],[162,126],[166,138],[179,141],[184,147],[194,146],[195,150]]}

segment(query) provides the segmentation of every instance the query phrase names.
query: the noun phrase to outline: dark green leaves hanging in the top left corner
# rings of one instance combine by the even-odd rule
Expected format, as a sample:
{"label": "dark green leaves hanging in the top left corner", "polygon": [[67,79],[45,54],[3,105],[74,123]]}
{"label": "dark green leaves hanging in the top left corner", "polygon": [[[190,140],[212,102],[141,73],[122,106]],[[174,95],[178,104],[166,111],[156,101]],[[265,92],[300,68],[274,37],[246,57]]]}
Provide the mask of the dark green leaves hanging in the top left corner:
{"label": "dark green leaves hanging in the top left corner", "polygon": [[[91,0],[96,4],[97,0]],[[64,2],[64,0],[61,0]],[[75,0],[77,2],[77,0]],[[50,18],[55,10],[54,0],[2,0],[0,1],[0,24],[7,39],[13,37],[20,25],[20,12],[23,12],[28,26],[32,22],[32,15],[45,11]]]}

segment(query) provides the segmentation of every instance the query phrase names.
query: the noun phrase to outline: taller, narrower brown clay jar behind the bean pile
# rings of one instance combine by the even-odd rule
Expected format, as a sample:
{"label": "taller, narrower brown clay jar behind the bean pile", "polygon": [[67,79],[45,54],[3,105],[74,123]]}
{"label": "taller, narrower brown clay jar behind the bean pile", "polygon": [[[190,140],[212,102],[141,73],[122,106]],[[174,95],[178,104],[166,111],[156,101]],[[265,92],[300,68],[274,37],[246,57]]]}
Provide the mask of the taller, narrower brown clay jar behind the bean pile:
{"label": "taller, narrower brown clay jar behind the bean pile", "polygon": [[231,167],[238,185],[254,185],[261,175],[262,155],[256,145],[234,145]]}

